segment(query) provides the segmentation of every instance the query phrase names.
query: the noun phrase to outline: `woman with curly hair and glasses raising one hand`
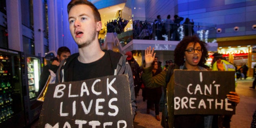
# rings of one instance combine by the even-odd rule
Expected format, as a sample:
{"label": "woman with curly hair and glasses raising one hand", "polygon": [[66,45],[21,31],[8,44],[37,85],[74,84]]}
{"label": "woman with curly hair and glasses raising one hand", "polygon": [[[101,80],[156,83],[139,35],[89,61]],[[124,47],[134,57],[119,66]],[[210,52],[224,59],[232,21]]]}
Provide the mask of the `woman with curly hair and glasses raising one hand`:
{"label": "woman with curly hair and glasses raising one hand", "polygon": [[[174,50],[175,69],[207,70],[206,59],[208,57],[206,43],[200,41],[196,36],[184,37]],[[169,82],[166,82],[167,72],[152,77],[151,63],[154,61],[154,48],[145,50],[145,67],[142,74],[143,82],[147,87],[155,88],[164,86],[167,89],[168,113],[162,113],[161,125],[165,128],[208,128],[211,127],[212,118],[204,115],[174,115],[174,75],[171,74]],[[181,76],[182,77],[182,76]],[[166,98],[166,97],[165,97]],[[230,92],[227,98],[238,104],[239,95]],[[165,107],[167,107],[165,106]],[[167,115],[168,114],[168,115]],[[204,119],[204,117],[206,117]],[[169,124],[169,125],[168,125]]]}

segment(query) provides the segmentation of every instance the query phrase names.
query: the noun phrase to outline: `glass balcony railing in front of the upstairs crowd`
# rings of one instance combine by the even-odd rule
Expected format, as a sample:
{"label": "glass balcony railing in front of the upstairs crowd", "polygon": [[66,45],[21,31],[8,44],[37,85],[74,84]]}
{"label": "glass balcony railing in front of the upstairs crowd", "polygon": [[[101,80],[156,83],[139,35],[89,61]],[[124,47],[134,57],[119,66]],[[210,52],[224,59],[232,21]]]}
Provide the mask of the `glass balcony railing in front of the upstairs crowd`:
{"label": "glass balcony railing in front of the upstairs crowd", "polygon": [[[126,22],[126,26],[121,26],[120,22],[111,29],[111,32],[117,33],[117,37],[121,46],[125,46],[132,39],[149,39],[149,40],[165,40],[165,41],[180,41],[184,36],[197,35],[206,43],[216,42],[216,25],[200,22],[190,22],[189,24],[169,23],[167,20],[147,21],[133,20]],[[118,24],[119,23],[119,24]],[[118,30],[118,31],[117,31]],[[108,30],[107,30],[108,31]]]}

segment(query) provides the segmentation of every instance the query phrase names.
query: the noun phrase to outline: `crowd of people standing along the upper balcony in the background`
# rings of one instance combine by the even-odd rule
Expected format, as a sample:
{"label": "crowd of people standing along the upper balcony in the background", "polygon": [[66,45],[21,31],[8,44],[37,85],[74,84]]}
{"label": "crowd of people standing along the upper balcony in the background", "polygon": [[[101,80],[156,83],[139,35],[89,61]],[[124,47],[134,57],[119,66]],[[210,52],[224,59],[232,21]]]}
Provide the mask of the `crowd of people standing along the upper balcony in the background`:
{"label": "crowd of people standing along the upper balcony in the background", "polygon": [[[184,36],[194,35],[193,19],[190,21],[189,18],[186,18],[183,24],[181,24],[183,20],[184,18],[178,15],[174,15],[173,18],[171,18],[171,15],[168,15],[165,20],[161,19],[161,15],[157,15],[154,22],[134,20],[133,39],[179,41]],[[120,34],[124,32],[127,24],[128,20],[119,17],[117,20],[109,21],[105,25],[108,33]]]}

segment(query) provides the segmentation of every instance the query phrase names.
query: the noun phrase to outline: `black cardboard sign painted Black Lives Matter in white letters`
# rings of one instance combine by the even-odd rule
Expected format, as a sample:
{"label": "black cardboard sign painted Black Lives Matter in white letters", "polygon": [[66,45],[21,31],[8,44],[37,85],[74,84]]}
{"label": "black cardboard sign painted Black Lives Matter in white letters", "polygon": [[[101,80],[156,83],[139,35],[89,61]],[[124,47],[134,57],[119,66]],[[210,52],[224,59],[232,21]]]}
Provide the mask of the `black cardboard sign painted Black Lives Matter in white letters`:
{"label": "black cardboard sign painted Black Lives Matter in white letters", "polygon": [[128,76],[105,76],[50,84],[39,126],[133,128]]}

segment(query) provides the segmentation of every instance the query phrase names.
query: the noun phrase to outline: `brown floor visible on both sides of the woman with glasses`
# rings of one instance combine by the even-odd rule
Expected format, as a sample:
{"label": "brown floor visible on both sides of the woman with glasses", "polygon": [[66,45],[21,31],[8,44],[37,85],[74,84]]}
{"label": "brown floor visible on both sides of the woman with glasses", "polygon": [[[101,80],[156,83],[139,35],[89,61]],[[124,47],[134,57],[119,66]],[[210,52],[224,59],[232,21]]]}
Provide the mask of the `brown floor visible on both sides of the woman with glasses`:
{"label": "brown floor visible on both sides of the woman with glasses", "polygon": [[[256,110],[256,89],[250,89],[252,79],[248,77],[246,80],[238,80],[236,92],[240,95],[240,103],[236,106],[236,114],[232,116],[230,123],[231,128],[250,128],[252,115]],[[137,96],[137,115],[135,117],[135,128],[162,128],[161,121],[155,119],[154,111],[146,114],[146,102],[143,102],[141,90]],[[160,117],[162,113],[160,113]]]}

